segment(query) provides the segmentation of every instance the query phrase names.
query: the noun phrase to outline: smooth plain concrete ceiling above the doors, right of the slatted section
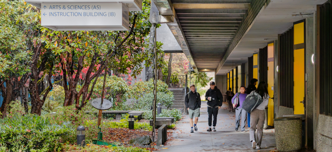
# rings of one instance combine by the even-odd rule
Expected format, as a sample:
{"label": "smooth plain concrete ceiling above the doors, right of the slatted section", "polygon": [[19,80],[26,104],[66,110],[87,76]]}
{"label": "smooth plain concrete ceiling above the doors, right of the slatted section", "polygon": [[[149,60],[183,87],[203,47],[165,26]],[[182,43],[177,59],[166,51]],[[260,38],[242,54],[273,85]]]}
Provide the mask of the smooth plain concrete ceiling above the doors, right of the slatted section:
{"label": "smooth plain concrete ceiling above the doors, right of the slatted section", "polygon": [[288,30],[293,26],[294,22],[305,19],[305,17],[310,17],[310,15],[300,16],[300,13],[314,13],[316,5],[323,4],[326,1],[271,0],[266,7],[263,6],[260,13],[255,17],[247,33],[242,37],[237,47],[233,49],[221,69],[217,71],[217,75],[226,75],[235,66],[248,62],[248,57],[258,52],[259,48],[267,46],[268,42],[277,39],[278,34],[282,34]]}

